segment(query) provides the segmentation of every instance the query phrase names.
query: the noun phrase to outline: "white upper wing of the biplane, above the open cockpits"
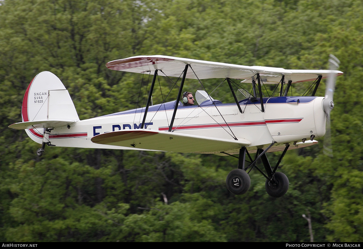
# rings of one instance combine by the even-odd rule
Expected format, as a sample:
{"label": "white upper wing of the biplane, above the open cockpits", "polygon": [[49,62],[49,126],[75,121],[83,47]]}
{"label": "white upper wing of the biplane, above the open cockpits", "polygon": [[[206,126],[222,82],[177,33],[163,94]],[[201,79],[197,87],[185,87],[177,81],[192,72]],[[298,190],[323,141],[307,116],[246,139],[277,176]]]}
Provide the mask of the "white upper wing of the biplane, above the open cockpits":
{"label": "white upper wing of the biplane, above the open cockpits", "polygon": [[[158,69],[167,76],[180,77],[187,64],[191,65],[191,68],[193,69],[188,69],[187,71],[186,78],[189,79],[197,79],[197,77],[199,79],[232,78],[245,79],[245,82],[252,82],[252,77],[256,73],[260,73],[262,82],[270,84],[280,82],[282,75],[285,75],[285,81],[291,80],[292,83],[295,83],[315,80],[319,75],[326,78],[330,72],[329,70],[286,70],[283,68],[270,68],[265,66],[242,66],[160,55],[129,57],[126,59],[110,61],[106,66],[112,70],[133,73],[145,73]],[[343,74],[338,70],[335,70],[334,73],[337,76]]]}

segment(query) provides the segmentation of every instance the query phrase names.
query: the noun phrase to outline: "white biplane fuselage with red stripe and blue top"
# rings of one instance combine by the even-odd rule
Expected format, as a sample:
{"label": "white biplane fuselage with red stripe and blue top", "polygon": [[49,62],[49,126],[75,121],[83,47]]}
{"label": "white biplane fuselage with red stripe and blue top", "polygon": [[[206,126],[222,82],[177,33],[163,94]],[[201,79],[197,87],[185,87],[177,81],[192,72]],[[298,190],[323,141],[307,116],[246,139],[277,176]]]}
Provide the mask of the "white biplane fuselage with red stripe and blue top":
{"label": "white biplane fuselage with red stripe and blue top", "polygon": [[[323,97],[263,98],[262,112],[260,101],[245,99],[239,102],[243,113],[238,111],[236,103],[213,104],[212,101],[206,101],[200,106],[182,106],[179,103],[172,132],[220,139],[245,139],[250,142],[247,147],[249,151],[266,148],[273,141],[277,143],[270,151],[283,150],[286,143],[295,141],[295,146],[308,146],[313,143],[310,142],[312,135],[319,138],[325,134],[326,115],[322,109],[322,100]],[[143,127],[144,108],[139,108],[77,121],[69,128],[54,128],[49,132],[49,141],[62,147],[126,149],[95,144],[91,138],[107,132],[139,128],[168,131],[174,103],[150,106]],[[42,143],[43,130],[31,130],[27,130],[30,137]],[[302,143],[304,138],[306,143]],[[130,146],[127,149],[138,148]],[[237,150],[224,152],[238,153]]]}

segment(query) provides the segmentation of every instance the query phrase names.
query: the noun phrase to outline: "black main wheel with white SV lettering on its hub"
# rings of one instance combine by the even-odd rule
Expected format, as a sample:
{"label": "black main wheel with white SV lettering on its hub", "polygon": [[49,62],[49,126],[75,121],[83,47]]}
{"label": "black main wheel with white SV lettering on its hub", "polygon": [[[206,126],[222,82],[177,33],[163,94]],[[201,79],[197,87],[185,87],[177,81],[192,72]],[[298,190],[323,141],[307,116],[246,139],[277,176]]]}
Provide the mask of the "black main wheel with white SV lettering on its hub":
{"label": "black main wheel with white SV lettering on its hub", "polygon": [[251,180],[246,171],[235,169],[229,172],[226,184],[229,192],[235,195],[243,195],[249,189]]}

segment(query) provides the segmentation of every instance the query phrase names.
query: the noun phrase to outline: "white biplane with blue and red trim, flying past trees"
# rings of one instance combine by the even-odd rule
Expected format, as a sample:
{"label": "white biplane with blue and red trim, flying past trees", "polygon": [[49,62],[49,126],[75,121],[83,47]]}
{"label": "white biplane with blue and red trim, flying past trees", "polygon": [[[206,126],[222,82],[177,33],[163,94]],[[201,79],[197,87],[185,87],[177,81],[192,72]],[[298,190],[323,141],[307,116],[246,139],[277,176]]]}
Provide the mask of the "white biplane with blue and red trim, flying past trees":
{"label": "white biplane with blue and red trim, flying past trees", "polygon": [[[237,168],[227,176],[228,190],[235,195],[244,194],[250,187],[248,173],[256,168],[266,177],[268,194],[281,197],[289,188],[289,180],[276,171],[286,151],[316,144],[315,138],[326,132],[326,121],[334,107],[335,78],[343,74],[337,70],[337,58],[331,56],[329,61],[329,70],[286,70],[170,56],[115,60],[108,62],[107,68],[153,75],[146,106],[87,120],[79,120],[60,79],[50,72],[41,72],[25,91],[23,122],[9,127],[25,129],[32,140],[42,144],[38,156],[43,154],[45,145],[238,154]],[[173,101],[152,105],[158,75],[181,80],[175,82],[179,90]],[[323,78],[328,78],[326,94],[317,97],[315,93]],[[234,101],[225,103],[206,90],[198,90],[197,104],[185,106],[185,79],[223,79]],[[305,81],[314,82],[310,96],[288,96],[292,84]],[[241,82],[249,83],[251,90],[240,89]],[[276,85],[277,96],[262,93],[262,86],[267,84]],[[266,156],[272,151],[282,151],[274,167]],[[259,159],[265,172],[256,166]]]}

